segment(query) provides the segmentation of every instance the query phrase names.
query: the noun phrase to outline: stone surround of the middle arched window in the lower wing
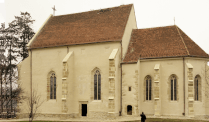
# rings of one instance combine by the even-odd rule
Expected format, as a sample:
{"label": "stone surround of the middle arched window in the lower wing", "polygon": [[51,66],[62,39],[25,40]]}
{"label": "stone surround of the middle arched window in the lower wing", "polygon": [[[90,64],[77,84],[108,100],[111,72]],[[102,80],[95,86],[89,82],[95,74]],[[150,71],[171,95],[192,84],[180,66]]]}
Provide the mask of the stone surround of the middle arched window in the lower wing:
{"label": "stone surround of the middle arched window in the lower wing", "polygon": [[[171,78],[172,77],[175,77],[176,78],[176,100],[171,100]],[[171,74],[170,76],[169,76],[169,78],[168,78],[168,82],[167,82],[167,84],[168,84],[168,100],[170,101],[170,102],[178,102],[179,101],[179,82],[178,82],[178,77],[177,77],[177,75],[176,74]],[[174,84],[174,83],[173,83]],[[173,91],[174,91],[174,89],[173,89]]]}

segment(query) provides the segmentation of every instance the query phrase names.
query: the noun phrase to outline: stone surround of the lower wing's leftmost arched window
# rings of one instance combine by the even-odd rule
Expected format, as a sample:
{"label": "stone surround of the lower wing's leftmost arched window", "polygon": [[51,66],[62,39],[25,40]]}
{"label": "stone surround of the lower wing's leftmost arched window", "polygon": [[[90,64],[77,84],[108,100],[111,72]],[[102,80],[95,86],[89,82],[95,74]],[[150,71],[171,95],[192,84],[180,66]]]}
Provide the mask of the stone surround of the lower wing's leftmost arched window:
{"label": "stone surround of the lower wing's leftmost arched window", "polygon": [[[146,100],[146,80],[147,80],[147,78],[150,78],[151,79],[151,100]],[[153,97],[153,78],[152,78],[152,76],[151,75],[146,75],[145,76],[145,78],[144,78],[144,101],[145,102],[152,102],[153,101],[153,99],[154,99],[154,97]],[[148,85],[149,86],[149,85]],[[149,87],[148,87],[149,88]],[[149,93],[148,93],[149,94]],[[149,95],[148,95],[148,97],[149,97]]]}

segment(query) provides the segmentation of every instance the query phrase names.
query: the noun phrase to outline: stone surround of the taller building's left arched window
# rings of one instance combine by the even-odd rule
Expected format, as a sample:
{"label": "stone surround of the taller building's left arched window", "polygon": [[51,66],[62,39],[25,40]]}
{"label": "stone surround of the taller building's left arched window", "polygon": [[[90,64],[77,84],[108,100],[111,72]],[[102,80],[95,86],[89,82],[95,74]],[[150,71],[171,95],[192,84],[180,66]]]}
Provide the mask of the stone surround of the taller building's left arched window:
{"label": "stone surround of the taller building's left arched window", "polygon": [[[51,86],[51,75],[52,74],[55,74],[55,76],[56,76],[56,99],[50,99],[50,93],[51,93],[51,91],[50,91],[50,86]],[[50,71],[49,73],[48,73],[48,75],[47,75],[47,101],[48,100],[57,100],[57,75],[56,75],[56,73],[55,73],[55,71]]]}

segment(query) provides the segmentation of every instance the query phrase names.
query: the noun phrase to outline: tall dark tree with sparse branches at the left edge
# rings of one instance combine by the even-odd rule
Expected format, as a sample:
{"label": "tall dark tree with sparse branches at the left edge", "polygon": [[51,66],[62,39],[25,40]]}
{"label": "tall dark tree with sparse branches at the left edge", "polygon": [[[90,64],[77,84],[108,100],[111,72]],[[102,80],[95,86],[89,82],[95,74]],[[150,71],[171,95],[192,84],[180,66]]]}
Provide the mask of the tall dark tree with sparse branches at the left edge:
{"label": "tall dark tree with sparse branches at the left edge", "polygon": [[[31,28],[32,20],[28,12],[21,12],[15,20],[0,26],[0,118],[15,117],[17,103],[23,90],[17,84],[17,67],[28,57],[26,45],[35,34]],[[7,55],[6,55],[7,54]]]}

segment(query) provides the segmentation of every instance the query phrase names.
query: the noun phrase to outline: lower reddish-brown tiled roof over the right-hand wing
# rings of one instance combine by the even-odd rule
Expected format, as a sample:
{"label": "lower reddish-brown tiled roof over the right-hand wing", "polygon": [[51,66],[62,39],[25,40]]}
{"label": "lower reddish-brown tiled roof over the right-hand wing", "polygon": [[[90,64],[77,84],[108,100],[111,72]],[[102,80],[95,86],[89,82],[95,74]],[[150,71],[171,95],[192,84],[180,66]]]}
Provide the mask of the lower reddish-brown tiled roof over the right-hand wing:
{"label": "lower reddish-brown tiled roof over the right-hand wing", "polygon": [[140,58],[176,56],[209,57],[177,26],[134,29],[123,62]]}

